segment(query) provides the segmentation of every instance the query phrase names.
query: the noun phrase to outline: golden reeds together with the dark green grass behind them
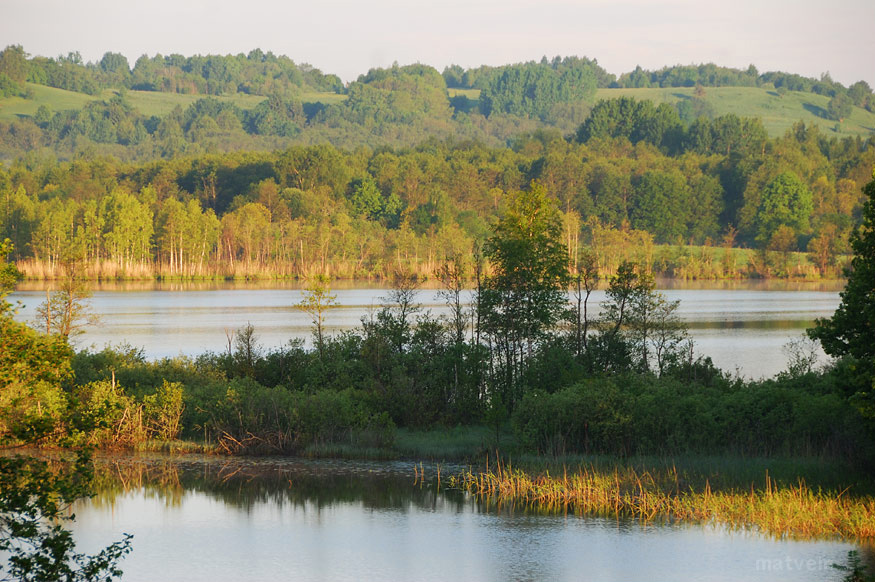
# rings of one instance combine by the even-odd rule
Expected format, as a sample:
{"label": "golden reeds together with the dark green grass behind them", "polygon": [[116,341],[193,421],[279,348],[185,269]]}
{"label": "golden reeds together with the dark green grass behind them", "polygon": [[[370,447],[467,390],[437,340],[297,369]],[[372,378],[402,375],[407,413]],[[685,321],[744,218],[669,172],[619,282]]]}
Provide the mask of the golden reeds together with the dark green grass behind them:
{"label": "golden reeds together with the dark green grass behind them", "polygon": [[872,485],[839,463],[732,456],[596,457],[571,466],[558,459],[523,458],[522,466],[493,462],[445,484],[496,505],[631,517],[645,523],[713,523],[776,537],[875,538]]}

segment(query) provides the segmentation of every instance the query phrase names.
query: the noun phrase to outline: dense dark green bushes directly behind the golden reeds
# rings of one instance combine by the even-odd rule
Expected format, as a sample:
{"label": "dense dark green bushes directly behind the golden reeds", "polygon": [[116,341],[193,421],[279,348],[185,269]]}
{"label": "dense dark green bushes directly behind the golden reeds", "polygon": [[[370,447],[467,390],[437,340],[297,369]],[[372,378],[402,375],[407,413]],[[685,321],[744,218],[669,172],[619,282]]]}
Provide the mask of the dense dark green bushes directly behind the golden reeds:
{"label": "dense dark green bushes directly behind the golden reeds", "polygon": [[621,375],[527,394],[512,417],[523,445],[542,454],[863,453],[865,428],[828,375],[709,385]]}

